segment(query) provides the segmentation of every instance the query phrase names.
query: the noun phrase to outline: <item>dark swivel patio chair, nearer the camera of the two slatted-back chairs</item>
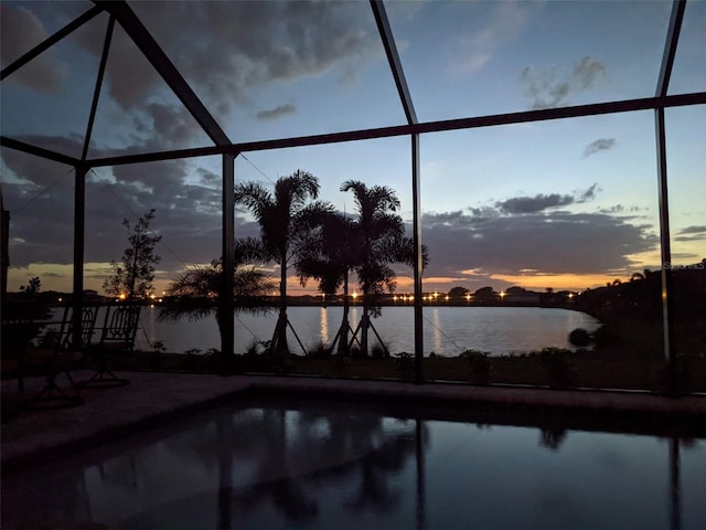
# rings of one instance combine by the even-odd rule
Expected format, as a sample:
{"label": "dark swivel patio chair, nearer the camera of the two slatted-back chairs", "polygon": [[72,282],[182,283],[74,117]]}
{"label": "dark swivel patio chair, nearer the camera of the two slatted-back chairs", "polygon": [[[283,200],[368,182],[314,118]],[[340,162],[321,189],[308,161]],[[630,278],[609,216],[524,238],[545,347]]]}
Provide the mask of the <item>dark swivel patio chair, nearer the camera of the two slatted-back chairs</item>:
{"label": "dark swivel patio chair, nearer the camera of the two slatted-back chairs", "polygon": [[[43,344],[28,353],[28,369],[39,371],[46,378],[42,391],[25,401],[25,409],[64,409],[83,403],[71,370],[76,367],[90,343],[98,306],[83,306],[81,318],[75,318],[74,308],[67,305],[58,331],[49,330],[42,338]],[[68,386],[58,384],[58,377],[65,374]]]}

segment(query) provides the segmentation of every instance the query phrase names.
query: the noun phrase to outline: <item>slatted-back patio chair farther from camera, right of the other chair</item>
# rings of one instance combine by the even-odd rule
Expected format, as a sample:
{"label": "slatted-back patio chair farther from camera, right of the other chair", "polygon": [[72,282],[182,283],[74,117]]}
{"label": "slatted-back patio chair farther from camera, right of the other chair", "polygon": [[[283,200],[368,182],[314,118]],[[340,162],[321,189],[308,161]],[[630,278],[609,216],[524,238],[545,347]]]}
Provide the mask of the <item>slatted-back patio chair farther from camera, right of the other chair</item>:
{"label": "slatted-back patio chair farther from camera, right of the other chair", "polygon": [[139,304],[125,304],[106,309],[100,339],[97,343],[86,348],[86,356],[93,358],[98,368],[88,380],[78,383],[79,386],[109,388],[130,382],[127,379],[118,378],[108,364],[111,357],[132,351],[140,322],[141,307]]}

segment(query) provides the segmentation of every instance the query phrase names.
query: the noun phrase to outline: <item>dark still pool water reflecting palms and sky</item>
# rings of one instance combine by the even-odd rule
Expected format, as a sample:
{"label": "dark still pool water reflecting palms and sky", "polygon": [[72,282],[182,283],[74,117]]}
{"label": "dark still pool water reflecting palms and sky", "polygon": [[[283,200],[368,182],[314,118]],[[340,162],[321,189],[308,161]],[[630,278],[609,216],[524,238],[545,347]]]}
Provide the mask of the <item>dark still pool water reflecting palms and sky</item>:
{"label": "dark still pool water reflecting palms and sky", "polygon": [[3,477],[2,526],[706,528],[704,438],[488,417],[248,400]]}

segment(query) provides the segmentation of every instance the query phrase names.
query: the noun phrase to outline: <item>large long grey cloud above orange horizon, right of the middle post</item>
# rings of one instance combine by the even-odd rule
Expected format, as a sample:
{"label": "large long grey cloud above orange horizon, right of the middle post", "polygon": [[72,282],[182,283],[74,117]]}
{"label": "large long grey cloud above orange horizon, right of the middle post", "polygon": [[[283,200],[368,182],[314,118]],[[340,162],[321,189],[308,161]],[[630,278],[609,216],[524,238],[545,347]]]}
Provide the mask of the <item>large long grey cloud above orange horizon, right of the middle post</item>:
{"label": "large long grey cloud above orange horizon, right of the middle post", "polygon": [[603,213],[555,211],[478,219],[459,212],[442,213],[440,219],[436,213],[422,216],[422,241],[431,256],[425,276],[456,277],[467,269],[608,274],[629,269],[630,255],[659,244],[650,227]]}

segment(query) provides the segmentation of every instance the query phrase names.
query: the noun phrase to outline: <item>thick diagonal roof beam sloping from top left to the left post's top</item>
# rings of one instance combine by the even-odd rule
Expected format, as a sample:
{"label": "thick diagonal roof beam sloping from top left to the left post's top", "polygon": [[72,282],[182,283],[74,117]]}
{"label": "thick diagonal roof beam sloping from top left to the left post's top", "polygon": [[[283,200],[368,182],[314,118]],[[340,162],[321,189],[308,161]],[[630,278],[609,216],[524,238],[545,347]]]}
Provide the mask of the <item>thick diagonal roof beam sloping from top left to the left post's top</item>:
{"label": "thick diagonal roof beam sloping from top left to the left post's top", "polygon": [[216,146],[231,145],[227,135],[211,113],[208,113],[151,33],[145,28],[145,24],[142,24],[137,14],[135,14],[135,11],[122,0],[98,2],[98,6],[116,18],[126,33],[130,35],[130,39],[132,39],[152,66],[154,66],[154,70],[159,72],[179,100],[186,107],[213,142]]}

